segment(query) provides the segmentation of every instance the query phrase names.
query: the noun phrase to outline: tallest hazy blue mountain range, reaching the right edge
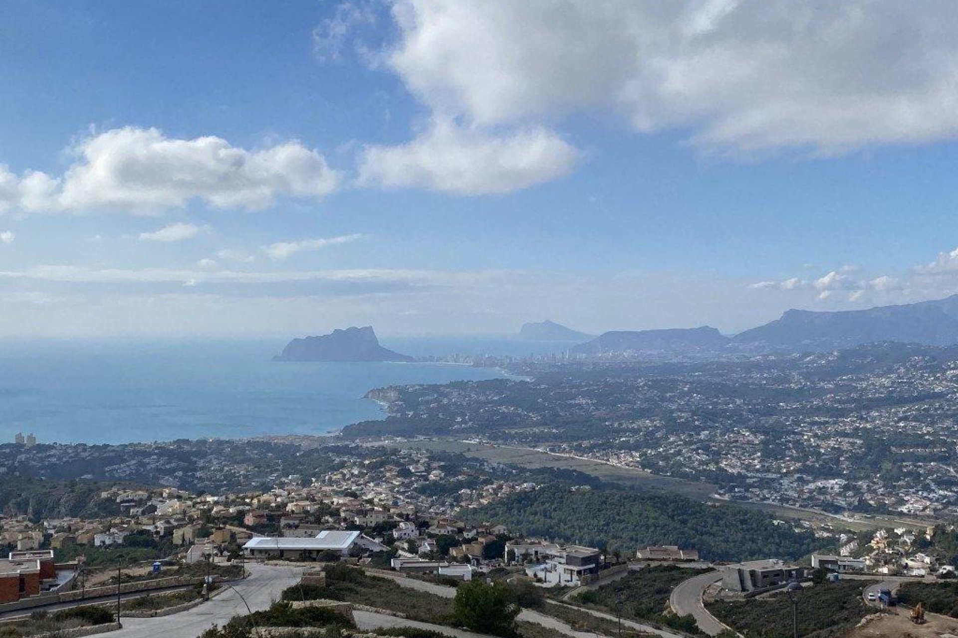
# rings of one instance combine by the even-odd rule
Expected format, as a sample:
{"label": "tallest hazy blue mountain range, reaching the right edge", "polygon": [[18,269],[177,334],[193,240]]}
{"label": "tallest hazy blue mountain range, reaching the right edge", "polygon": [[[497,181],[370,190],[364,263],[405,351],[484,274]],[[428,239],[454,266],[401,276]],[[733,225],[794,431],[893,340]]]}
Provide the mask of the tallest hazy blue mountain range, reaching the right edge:
{"label": "tallest hazy blue mountain range, reaching the right edge", "polygon": [[788,350],[834,349],[876,341],[951,345],[958,343],[958,295],[868,310],[788,310],[781,319],[746,330],[732,341]]}

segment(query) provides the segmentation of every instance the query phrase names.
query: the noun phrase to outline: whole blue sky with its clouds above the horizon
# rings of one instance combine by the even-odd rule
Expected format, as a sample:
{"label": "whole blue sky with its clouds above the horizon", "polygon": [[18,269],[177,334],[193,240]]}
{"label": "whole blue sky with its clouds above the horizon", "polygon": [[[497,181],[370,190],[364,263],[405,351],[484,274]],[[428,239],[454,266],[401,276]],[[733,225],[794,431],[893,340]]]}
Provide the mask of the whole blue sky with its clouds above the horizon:
{"label": "whole blue sky with its clouds above the horizon", "polygon": [[0,11],[0,336],[713,325],[958,293],[958,5]]}

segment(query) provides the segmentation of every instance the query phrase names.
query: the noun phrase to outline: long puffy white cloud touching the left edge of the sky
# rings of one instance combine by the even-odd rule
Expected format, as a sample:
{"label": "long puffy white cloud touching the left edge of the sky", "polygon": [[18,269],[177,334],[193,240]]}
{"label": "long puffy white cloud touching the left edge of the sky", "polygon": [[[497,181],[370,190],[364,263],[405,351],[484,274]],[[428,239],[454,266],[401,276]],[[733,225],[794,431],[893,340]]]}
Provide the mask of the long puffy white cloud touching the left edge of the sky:
{"label": "long puffy white cloud touching the left edge of the sky", "polygon": [[127,126],[85,138],[61,177],[31,171],[17,178],[0,166],[0,210],[181,208],[196,199],[222,208],[262,209],[277,197],[321,198],[341,176],[298,142],[260,150],[217,137],[177,140],[155,128]]}

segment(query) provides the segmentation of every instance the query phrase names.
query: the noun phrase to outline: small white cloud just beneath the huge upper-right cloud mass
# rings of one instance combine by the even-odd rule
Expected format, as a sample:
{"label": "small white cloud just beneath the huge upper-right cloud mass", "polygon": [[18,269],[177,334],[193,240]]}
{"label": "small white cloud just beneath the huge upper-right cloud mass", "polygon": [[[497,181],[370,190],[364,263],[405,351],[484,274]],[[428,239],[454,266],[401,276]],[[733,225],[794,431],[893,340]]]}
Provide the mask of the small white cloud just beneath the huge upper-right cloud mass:
{"label": "small white cloud just beneath the huge upper-right cloud mass", "polygon": [[497,136],[435,121],[410,143],[367,146],[359,182],[469,195],[507,193],[565,175],[577,156],[572,146],[541,127]]}

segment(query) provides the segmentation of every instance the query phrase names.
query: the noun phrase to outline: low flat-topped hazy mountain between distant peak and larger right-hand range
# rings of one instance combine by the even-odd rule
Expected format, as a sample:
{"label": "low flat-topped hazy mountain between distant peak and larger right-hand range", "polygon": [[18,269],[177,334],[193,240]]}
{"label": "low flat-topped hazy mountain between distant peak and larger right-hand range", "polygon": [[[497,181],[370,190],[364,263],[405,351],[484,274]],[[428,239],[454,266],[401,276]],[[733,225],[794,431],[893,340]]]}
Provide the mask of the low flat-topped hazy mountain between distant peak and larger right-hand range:
{"label": "low flat-topped hazy mountain between distant peak and larger right-hand range", "polygon": [[680,352],[718,350],[729,338],[716,328],[669,328],[666,330],[621,330],[606,332],[592,341],[573,346],[572,355],[598,357],[623,352]]}

